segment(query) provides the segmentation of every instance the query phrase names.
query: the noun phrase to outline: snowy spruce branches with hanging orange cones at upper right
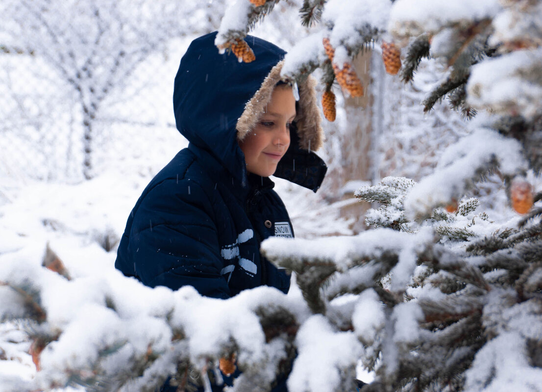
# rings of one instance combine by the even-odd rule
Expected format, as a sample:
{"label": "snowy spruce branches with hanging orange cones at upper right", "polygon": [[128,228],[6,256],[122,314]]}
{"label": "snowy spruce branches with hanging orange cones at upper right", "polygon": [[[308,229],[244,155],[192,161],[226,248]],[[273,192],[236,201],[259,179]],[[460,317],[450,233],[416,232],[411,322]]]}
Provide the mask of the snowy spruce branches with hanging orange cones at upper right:
{"label": "snowy spruce branches with hanging orange cones at upper right", "polygon": [[[217,46],[223,48],[242,39],[275,3],[255,6],[249,1],[234,2],[224,15]],[[452,4],[439,0],[426,6],[419,0],[305,0],[301,22],[314,27],[289,51],[282,70],[294,81],[320,68],[324,92],[330,91],[336,80],[344,94],[355,96],[363,93],[363,86],[351,67],[352,58],[375,43],[384,43],[384,63],[395,61],[392,73],[398,67],[397,51],[407,47],[399,71],[405,82],[412,80],[423,58],[431,56],[440,62],[442,82],[431,89],[423,102],[424,110],[446,97],[466,117],[480,115],[471,125],[473,135],[468,143],[460,142],[441,161],[442,168],[462,175],[446,176],[447,186],[431,200],[417,199],[416,209],[422,214],[460,198],[473,182],[495,171],[509,188],[514,180],[519,182],[512,189],[523,189],[517,191],[516,198],[524,200],[518,208],[525,212],[533,193],[525,174],[529,168],[535,173],[542,168],[540,4],[505,0],[477,4],[473,8],[467,1]],[[325,103],[329,111],[327,99]],[[505,154],[506,150],[510,153]],[[476,154],[469,154],[473,151]],[[515,204],[512,195],[510,199]]]}

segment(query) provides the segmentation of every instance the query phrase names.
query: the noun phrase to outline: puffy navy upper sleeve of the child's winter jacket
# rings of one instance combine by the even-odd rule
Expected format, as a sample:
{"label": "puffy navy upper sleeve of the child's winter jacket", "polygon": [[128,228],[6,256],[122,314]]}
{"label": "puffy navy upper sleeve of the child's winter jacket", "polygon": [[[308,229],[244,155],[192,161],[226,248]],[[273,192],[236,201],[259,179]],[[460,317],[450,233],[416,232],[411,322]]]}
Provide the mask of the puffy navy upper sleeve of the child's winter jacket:
{"label": "puffy navy upper sleeve of the child's winter jacket", "polygon": [[145,195],[134,212],[128,257],[147,286],[229,298],[212,205],[196,182],[166,180]]}

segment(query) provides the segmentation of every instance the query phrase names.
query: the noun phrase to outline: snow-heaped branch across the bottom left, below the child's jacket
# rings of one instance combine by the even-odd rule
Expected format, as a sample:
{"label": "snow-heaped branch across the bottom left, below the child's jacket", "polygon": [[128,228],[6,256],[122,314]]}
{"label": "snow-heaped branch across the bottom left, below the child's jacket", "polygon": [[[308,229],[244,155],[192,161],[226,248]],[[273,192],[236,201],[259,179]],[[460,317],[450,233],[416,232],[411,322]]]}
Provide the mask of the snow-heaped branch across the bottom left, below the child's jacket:
{"label": "snow-heaped branch across the bottom left, below the child's jacket", "polygon": [[238,390],[256,376],[271,385],[282,361],[292,360],[293,339],[308,315],[305,306],[265,286],[212,299],[190,286],[151,289],[116,270],[67,280],[36,256],[14,253],[0,263],[1,289],[12,289],[10,296],[0,291],[1,303],[12,297],[19,308],[0,306],[0,319],[27,320],[39,370],[27,389],[14,378],[3,382],[4,391],[150,391],[166,377],[183,380],[190,371],[200,375],[198,382],[217,380],[219,359],[233,354],[244,374]]}

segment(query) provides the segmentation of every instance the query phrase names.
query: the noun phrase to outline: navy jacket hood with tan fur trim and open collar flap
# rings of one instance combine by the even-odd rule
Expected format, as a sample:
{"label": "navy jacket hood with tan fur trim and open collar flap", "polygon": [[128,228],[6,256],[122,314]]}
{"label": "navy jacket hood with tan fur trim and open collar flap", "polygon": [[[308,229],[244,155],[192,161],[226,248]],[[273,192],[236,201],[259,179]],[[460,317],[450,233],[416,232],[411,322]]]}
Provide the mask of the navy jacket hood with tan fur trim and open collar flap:
{"label": "navy jacket hood with tan fur trim and open collar flap", "polygon": [[[256,60],[238,62],[233,53],[218,52],[215,37],[216,32],[196,38],[180,61],[173,90],[175,121],[179,132],[193,146],[210,153],[234,178],[246,184],[246,165],[238,140],[256,124],[276,83],[291,82],[280,75],[286,52],[247,36]],[[316,191],[326,167],[312,152],[321,147],[323,139],[314,84],[314,78],[309,77],[299,85],[296,135],[292,135],[290,148],[274,175]]]}

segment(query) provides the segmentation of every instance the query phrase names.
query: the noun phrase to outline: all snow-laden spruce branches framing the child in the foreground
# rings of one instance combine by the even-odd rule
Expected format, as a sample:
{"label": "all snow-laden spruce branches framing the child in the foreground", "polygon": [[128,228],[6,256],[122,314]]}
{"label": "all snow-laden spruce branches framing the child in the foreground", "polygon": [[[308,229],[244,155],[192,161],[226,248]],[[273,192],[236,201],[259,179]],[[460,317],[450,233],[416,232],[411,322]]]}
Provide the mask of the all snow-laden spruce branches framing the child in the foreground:
{"label": "all snow-laden spruce branches framing the child in the foreground", "polygon": [[[339,26],[339,3],[366,18]],[[446,3],[435,2],[441,14]],[[242,12],[242,23],[225,26],[218,45],[242,38],[276,1],[236,4],[228,12]],[[448,95],[467,115],[489,109],[489,120],[451,146],[420,182],[388,177],[360,188],[358,198],[380,204],[366,215],[376,228],[358,236],[264,241],[264,256],[296,273],[302,299],[260,287],[217,300],[190,287],[172,292],[121,276],[78,277],[54,259],[42,266],[4,257],[0,295],[9,301],[0,303],[0,319],[25,328],[39,370],[33,381],[8,390],[153,391],[172,376],[179,391],[209,391],[221,381],[220,359],[234,355],[243,373],[231,392],[269,391],[280,376],[292,392],[350,391],[358,362],[375,373],[362,392],[540,390],[542,194],[531,189],[533,206],[512,227],[477,213],[478,200],[465,195],[491,171],[507,184],[525,181],[530,169],[540,172],[539,89],[518,90],[521,97],[491,93],[494,84],[509,87],[512,77],[539,88],[542,8],[512,1],[492,3],[485,13],[437,19],[431,8],[408,19],[402,7],[415,0],[397,0],[386,2],[388,28],[370,12],[352,14],[367,4],[364,10],[383,2],[305,1],[305,23],[321,16],[324,30],[315,33],[315,53],[291,60],[289,75],[330,64],[325,36],[351,57],[388,29],[404,45],[419,45],[408,57],[406,79],[429,42],[431,56],[448,67],[428,108]],[[517,23],[506,30],[503,19]],[[422,34],[427,41],[417,40]],[[521,195],[510,188],[514,204]],[[73,309],[59,306],[60,299]]]}

